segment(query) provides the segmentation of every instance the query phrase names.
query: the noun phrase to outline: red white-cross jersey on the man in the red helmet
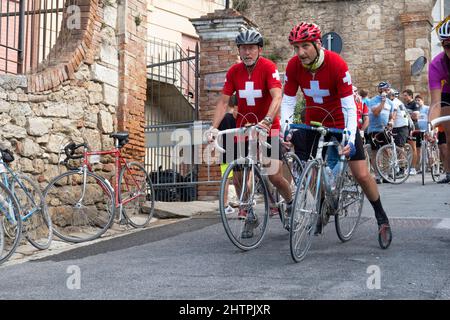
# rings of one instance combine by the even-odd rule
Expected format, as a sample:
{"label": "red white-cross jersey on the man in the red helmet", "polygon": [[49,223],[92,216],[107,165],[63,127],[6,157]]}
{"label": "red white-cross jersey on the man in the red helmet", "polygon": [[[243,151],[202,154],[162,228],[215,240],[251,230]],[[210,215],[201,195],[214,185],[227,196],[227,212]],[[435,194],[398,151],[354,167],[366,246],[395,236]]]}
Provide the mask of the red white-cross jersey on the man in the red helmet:
{"label": "red white-cross jersey on the man in the red helmet", "polygon": [[353,88],[347,64],[337,53],[325,50],[324,62],[314,73],[303,67],[298,56],[293,57],[286,68],[284,94],[294,97],[298,88],[305,97],[307,123],[344,126],[341,99],[352,96]]}

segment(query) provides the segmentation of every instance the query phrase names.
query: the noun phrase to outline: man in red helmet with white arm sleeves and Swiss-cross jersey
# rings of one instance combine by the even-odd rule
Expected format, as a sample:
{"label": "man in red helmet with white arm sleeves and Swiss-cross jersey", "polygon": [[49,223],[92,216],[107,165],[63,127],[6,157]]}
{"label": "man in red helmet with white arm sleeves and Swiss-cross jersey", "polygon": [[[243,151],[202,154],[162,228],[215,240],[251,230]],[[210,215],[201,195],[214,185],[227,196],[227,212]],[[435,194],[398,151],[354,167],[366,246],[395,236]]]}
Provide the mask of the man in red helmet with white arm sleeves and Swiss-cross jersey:
{"label": "man in red helmet with white arm sleeves and Swiss-cross jersey", "polygon": [[[298,88],[301,88],[306,100],[306,124],[318,121],[328,127],[350,131],[349,142],[342,153],[350,158],[352,174],[375,210],[379,243],[386,249],[392,240],[391,228],[377,184],[367,168],[361,136],[356,134],[356,105],[347,64],[337,53],[322,48],[321,31],[314,23],[301,22],[296,25],[289,34],[289,42],[296,55],[289,60],[286,68],[282,122],[289,121],[296,105]],[[311,151],[315,154],[316,136],[317,132],[310,130],[292,135],[291,141],[301,160],[308,160]],[[318,228],[321,226],[318,225]]]}

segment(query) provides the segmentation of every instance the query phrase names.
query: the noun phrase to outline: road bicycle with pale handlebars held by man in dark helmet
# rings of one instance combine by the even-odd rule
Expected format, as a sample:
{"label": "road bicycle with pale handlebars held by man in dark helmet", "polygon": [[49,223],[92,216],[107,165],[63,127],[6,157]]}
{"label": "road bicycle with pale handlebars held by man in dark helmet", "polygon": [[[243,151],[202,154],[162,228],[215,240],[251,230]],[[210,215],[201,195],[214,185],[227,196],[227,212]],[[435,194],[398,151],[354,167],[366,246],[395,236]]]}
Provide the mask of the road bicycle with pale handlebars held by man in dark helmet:
{"label": "road bicycle with pale handlebars held by man in dark helmet", "polygon": [[[261,139],[266,135],[264,130],[249,126],[220,131],[215,140],[215,148],[220,152],[225,150],[218,143],[219,137],[227,134],[236,134],[238,139],[248,135],[249,150],[246,157],[232,161],[223,174],[219,211],[225,232],[231,242],[241,250],[250,250],[261,243],[267,231],[270,207],[278,210],[284,224],[286,204],[277,193],[268,191],[269,181],[266,169],[261,163],[262,146],[267,149],[272,146]],[[287,179],[291,183],[291,188],[294,188],[299,181],[302,163],[292,152],[283,153],[282,161],[287,171]],[[248,232],[251,232],[251,236]]]}

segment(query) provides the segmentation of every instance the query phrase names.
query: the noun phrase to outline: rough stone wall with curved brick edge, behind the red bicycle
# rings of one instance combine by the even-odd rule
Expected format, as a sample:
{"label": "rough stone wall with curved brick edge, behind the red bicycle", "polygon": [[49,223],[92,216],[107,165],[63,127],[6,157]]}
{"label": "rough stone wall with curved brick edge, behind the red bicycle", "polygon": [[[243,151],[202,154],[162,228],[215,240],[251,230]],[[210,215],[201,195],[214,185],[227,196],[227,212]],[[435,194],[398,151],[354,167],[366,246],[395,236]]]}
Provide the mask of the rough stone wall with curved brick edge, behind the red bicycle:
{"label": "rough stone wall with curved brick edge, behind the red bicycle", "polygon": [[[145,5],[140,0],[122,1],[122,5],[116,0],[79,1],[91,10],[82,15],[82,25],[90,31],[80,40],[89,46],[81,53],[76,46],[67,44],[68,48],[75,48],[76,64],[61,61],[56,68],[64,70],[67,78],[53,82],[54,72],[49,71],[50,67],[26,76],[0,75],[0,144],[15,153],[17,169],[35,175],[41,183],[57,175],[58,153],[64,140],[85,141],[94,150],[109,149],[113,146],[109,134],[117,129],[129,129],[130,150],[144,145],[143,128],[134,126],[133,117],[136,115],[142,118],[138,121],[144,121],[145,44],[138,42],[145,40],[137,39],[134,34],[146,34],[146,30],[136,31],[131,24],[135,23],[136,12]],[[126,17],[124,12],[132,14],[128,25],[120,24],[121,18]],[[146,25],[145,21],[142,24]],[[127,34],[128,40],[120,37],[123,34]],[[119,57],[128,60],[124,63]],[[144,84],[139,87],[140,93],[134,91],[136,81],[119,74],[138,77]],[[124,93],[128,98],[123,98]],[[141,101],[136,104],[133,99]],[[137,105],[142,105],[142,113],[138,114]],[[142,160],[133,152],[128,156]],[[113,166],[107,160],[100,169],[110,172]]]}

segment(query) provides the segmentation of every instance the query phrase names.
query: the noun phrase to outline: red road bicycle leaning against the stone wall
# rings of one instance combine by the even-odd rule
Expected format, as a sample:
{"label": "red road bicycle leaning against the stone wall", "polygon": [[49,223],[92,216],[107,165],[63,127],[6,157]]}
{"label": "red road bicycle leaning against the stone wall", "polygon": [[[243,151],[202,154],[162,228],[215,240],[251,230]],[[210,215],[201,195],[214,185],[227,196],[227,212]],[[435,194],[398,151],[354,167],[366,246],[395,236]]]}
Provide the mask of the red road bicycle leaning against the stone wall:
{"label": "red road bicycle leaning against the stone wall", "polygon": [[[145,227],[153,216],[154,190],[149,175],[140,163],[127,162],[121,154],[128,132],[110,137],[114,148],[107,151],[90,151],[87,143],[71,142],[64,147],[66,157],[61,163],[68,171],[53,178],[44,190],[54,234],[62,240],[96,239],[113,224],[116,213],[119,223],[135,228]],[[82,154],[75,154],[80,148]],[[114,157],[113,184],[98,174],[95,164],[100,163],[100,156]],[[69,160],[76,159],[82,159],[81,164],[71,166]]]}

